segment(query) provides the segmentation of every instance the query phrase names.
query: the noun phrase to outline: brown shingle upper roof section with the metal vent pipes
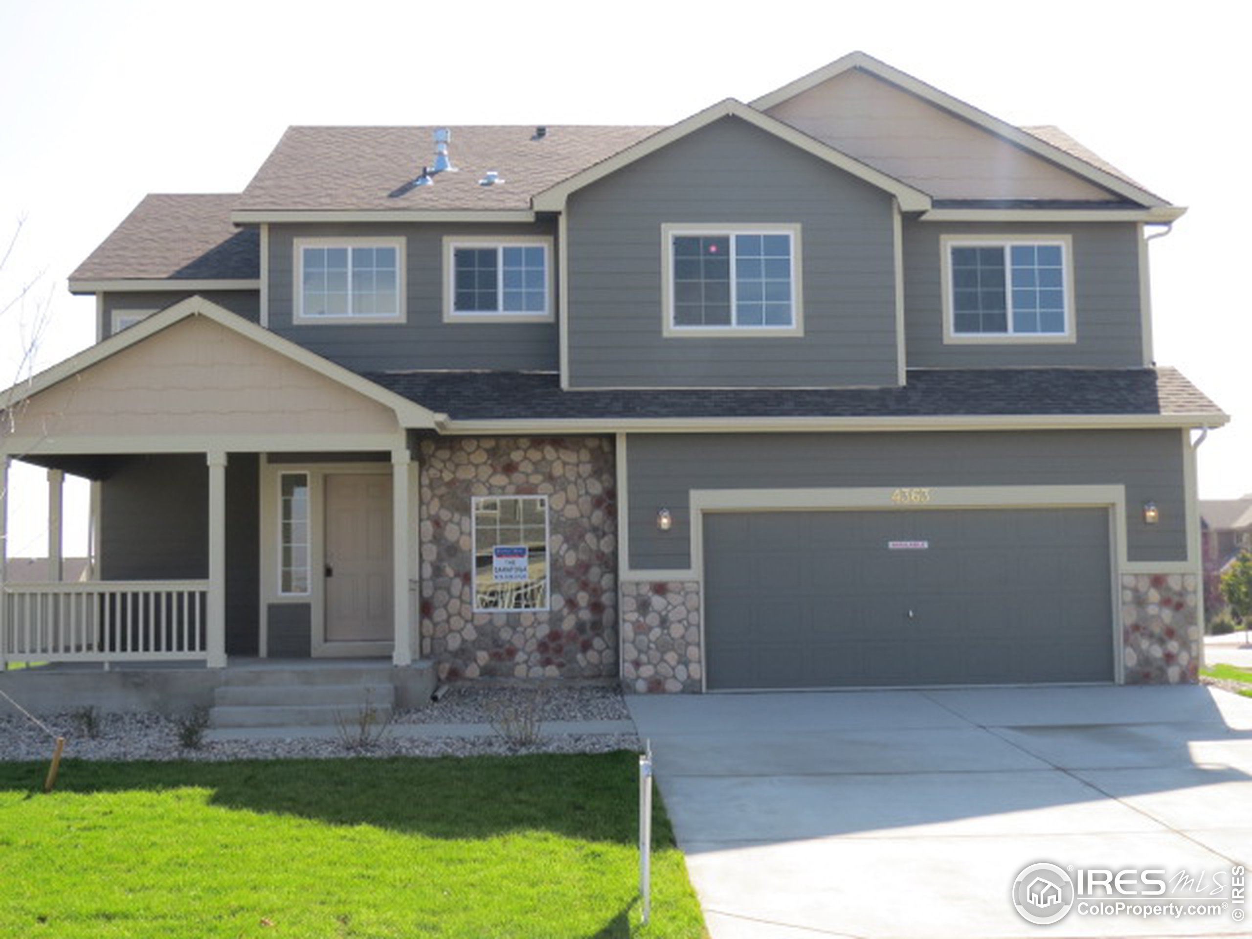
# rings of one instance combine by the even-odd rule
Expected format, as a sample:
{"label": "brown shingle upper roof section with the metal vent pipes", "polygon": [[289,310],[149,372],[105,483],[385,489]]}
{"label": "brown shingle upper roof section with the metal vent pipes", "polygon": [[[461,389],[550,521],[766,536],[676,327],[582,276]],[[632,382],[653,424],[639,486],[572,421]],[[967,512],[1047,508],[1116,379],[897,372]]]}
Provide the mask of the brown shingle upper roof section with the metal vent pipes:
{"label": "brown shingle upper roof section with the metal vent pipes", "polygon": [[[293,126],[253,177],[238,209],[530,209],[531,197],[655,134],[657,126],[449,128],[457,173],[413,187],[434,165],[434,126]],[[478,180],[496,170],[503,183]]]}

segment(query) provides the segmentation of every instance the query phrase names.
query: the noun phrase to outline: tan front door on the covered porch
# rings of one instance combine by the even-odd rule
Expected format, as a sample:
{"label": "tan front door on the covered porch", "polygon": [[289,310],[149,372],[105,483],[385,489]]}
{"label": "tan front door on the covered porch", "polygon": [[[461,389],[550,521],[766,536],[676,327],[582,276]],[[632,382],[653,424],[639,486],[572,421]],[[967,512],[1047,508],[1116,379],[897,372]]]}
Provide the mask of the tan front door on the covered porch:
{"label": "tan front door on the covered porch", "polygon": [[392,481],[371,473],[326,477],[326,641],[389,642]]}

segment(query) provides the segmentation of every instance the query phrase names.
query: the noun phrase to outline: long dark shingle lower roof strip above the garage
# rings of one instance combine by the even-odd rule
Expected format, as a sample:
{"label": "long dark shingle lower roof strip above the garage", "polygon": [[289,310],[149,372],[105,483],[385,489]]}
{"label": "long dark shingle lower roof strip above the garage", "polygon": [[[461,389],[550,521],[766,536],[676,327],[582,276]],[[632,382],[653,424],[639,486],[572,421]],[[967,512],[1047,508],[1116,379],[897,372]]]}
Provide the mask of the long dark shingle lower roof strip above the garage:
{"label": "long dark shingle lower roof strip above the garage", "polygon": [[374,372],[454,421],[770,417],[1168,416],[1221,409],[1172,368],[914,369],[903,388],[570,391],[556,374]]}

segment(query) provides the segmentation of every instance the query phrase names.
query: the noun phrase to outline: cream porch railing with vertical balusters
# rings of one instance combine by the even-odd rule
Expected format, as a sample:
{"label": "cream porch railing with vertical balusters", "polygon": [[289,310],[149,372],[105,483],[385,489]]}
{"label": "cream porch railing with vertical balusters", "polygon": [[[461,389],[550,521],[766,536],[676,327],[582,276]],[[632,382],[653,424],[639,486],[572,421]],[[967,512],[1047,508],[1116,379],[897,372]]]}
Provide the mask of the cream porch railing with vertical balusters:
{"label": "cream porch railing with vertical balusters", "polygon": [[6,583],[0,661],[208,659],[208,581]]}

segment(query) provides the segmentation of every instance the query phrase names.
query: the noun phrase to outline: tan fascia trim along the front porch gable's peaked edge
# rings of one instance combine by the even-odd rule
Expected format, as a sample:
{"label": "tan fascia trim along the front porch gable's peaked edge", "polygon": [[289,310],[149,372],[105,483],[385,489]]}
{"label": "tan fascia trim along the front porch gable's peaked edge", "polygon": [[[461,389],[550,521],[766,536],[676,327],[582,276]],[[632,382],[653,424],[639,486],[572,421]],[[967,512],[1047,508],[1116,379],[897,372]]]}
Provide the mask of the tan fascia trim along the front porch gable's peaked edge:
{"label": "tan fascia trim along the front porch gable's peaked edge", "polygon": [[60,382],[71,378],[85,368],[116,356],[119,352],[143,342],[149,336],[153,336],[162,329],[168,329],[175,323],[194,316],[207,317],[219,326],[243,336],[245,339],[252,339],[272,352],[310,368],[318,374],[329,378],[332,382],[337,382],[338,384],[342,384],[343,387],[349,388],[386,408],[389,408],[396,413],[396,419],[402,427],[437,429],[447,419],[444,414],[438,414],[403,396],[387,391],[386,388],[374,384],[368,378],[363,378],[343,366],[338,366],[329,359],[322,358],[303,346],[272,333],[269,329],[264,329],[254,323],[250,323],[243,317],[237,316],[235,313],[232,313],[230,310],[224,309],[217,303],[207,300],[203,297],[188,297],[187,299],[179,300],[159,313],[154,313],[146,319],[135,323],[129,329],[123,329],[116,336],[110,336],[104,342],[96,343],[76,356],[71,356],[64,362],[40,372],[29,382],[21,382],[5,392],[0,392],[0,401],[16,402],[29,398],[33,394],[38,394],[45,388],[50,388],[54,384],[59,384]]}

